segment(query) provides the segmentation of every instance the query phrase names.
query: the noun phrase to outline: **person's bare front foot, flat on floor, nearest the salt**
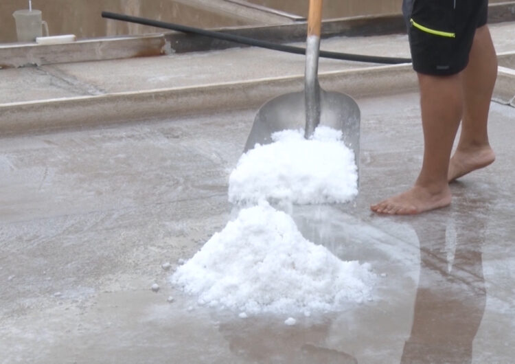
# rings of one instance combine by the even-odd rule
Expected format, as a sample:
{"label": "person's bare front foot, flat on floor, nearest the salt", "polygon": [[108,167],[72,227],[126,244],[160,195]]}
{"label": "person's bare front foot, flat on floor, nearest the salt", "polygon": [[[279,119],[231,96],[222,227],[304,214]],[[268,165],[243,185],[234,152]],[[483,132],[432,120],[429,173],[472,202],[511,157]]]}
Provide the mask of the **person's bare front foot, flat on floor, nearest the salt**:
{"label": "person's bare front foot, flat on floor, nearest the salt", "polygon": [[414,215],[421,212],[438,209],[450,204],[450,188],[443,187],[438,192],[431,192],[425,187],[415,185],[411,190],[387,198],[370,209],[378,214]]}

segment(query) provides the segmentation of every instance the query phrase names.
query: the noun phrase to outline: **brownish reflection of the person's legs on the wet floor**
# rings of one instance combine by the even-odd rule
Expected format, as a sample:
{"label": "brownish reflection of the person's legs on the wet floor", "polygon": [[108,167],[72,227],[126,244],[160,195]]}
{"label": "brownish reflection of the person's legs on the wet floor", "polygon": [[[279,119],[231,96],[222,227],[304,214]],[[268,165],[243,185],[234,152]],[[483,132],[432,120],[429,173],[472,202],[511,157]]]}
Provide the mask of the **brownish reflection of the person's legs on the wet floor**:
{"label": "brownish reflection of the person's legs on the wet floor", "polygon": [[[471,363],[472,342],[485,312],[481,249],[488,208],[481,196],[428,224],[411,224],[420,241],[420,280],[411,335],[401,363]],[[472,209],[472,212],[471,212]],[[446,216],[447,215],[447,216]]]}

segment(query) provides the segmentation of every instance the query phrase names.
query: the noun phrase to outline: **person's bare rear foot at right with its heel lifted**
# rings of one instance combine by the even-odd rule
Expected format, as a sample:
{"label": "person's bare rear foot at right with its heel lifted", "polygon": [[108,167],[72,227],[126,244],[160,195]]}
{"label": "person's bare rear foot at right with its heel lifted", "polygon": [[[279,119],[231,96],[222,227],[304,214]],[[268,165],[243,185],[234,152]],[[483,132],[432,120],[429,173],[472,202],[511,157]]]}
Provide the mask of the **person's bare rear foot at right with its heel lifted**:
{"label": "person's bare rear foot at right with its heel lifted", "polygon": [[477,148],[457,149],[450,159],[447,179],[449,182],[452,182],[473,170],[479,170],[479,168],[492,164],[494,160],[494,151],[488,145]]}

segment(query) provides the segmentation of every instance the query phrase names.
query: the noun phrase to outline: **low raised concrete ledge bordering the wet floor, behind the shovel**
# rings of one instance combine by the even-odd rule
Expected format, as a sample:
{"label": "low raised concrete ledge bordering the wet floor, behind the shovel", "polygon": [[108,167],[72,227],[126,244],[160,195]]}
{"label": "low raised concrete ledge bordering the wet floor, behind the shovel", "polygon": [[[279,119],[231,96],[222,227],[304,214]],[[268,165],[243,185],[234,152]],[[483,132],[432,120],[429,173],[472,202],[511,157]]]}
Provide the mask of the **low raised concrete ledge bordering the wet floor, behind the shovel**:
{"label": "low raised concrete ledge bordering the wet floor, behind the shovel", "polygon": [[[323,89],[354,98],[402,93],[417,87],[411,65],[321,73]],[[106,126],[193,113],[258,109],[283,93],[304,89],[304,75],[201,87],[159,89],[79,98],[0,104],[0,135],[41,133],[63,128]]]}

